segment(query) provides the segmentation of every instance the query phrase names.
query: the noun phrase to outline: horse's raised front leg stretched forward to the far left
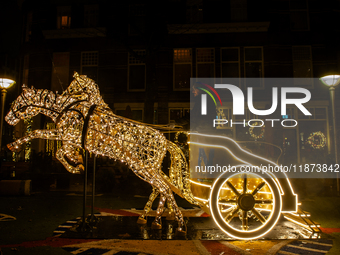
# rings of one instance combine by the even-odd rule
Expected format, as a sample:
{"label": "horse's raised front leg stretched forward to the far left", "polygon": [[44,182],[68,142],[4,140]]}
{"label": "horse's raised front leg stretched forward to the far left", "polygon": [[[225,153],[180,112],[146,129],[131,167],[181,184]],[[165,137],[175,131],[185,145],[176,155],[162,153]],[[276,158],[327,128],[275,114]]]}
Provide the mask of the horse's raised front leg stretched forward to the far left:
{"label": "horse's raised front leg stretched forward to the far left", "polygon": [[49,140],[62,140],[62,136],[60,136],[60,134],[58,133],[58,130],[56,129],[50,129],[50,130],[37,129],[37,130],[33,130],[28,135],[19,138],[15,142],[7,144],[7,147],[11,151],[19,151],[21,145],[36,138],[49,139]]}

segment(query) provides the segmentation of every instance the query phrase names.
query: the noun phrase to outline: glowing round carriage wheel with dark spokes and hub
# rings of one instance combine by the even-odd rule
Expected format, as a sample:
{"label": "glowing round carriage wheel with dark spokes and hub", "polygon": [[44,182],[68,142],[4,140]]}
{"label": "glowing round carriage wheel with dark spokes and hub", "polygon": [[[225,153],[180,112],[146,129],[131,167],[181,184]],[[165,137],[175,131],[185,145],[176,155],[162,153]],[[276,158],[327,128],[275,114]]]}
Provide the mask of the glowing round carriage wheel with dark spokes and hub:
{"label": "glowing round carriage wheel with dark spokes and hub", "polygon": [[267,173],[224,173],[213,185],[209,207],[225,233],[256,239],[275,226],[282,201],[277,183]]}

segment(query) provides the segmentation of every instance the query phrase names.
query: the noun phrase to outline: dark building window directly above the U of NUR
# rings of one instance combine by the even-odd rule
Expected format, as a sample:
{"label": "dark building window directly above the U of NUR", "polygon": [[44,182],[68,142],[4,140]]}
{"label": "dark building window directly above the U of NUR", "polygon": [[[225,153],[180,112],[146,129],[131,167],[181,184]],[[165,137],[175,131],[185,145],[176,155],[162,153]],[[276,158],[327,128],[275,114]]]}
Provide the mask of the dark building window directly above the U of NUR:
{"label": "dark building window directly above the U of NUR", "polygon": [[[263,48],[244,48],[244,77],[262,78],[263,72]],[[263,88],[263,79],[252,80],[252,87]]]}

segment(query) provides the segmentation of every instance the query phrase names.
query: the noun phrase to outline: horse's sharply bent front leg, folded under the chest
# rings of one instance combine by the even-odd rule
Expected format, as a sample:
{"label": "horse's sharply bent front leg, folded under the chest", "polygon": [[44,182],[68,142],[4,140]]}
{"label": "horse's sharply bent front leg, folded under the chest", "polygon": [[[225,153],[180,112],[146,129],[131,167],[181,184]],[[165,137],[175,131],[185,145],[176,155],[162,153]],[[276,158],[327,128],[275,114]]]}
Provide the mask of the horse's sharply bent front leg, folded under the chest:
{"label": "horse's sharply bent front leg, folded under the chest", "polygon": [[[70,173],[80,173],[84,171],[82,153],[79,153],[74,145],[64,144],[57,151],[56,157]],[[66,157],[74,162],[74,165],[70,164]]]}

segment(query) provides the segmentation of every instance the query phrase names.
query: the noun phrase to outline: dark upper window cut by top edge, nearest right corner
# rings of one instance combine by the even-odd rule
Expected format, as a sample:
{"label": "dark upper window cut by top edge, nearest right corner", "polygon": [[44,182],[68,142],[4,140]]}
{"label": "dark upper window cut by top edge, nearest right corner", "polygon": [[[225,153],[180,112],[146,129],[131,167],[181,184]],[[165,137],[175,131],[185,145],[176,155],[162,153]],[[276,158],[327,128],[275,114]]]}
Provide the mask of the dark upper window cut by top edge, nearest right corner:
{"label": "dark upper window cut by top edge, nearest right corner", "polygon": [[290,28],[293,31],[309,30],[308,3],[306,0],[290,0]]}

